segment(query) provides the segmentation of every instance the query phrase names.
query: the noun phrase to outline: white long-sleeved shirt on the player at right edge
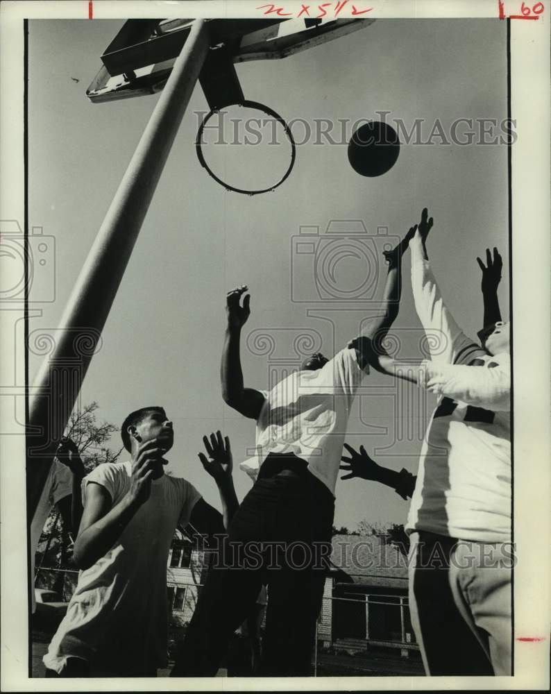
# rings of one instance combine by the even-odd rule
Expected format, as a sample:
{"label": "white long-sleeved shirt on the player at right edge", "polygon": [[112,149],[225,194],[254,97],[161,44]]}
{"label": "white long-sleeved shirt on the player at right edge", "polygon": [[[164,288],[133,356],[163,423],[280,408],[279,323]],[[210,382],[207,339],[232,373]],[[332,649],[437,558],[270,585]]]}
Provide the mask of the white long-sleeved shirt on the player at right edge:
{"label": "white long-sleeved shirt on the player at right edge", "polygon": [[479,542],[511,539],[510,357],[488,355],[444,305],[427,261],[412,262],[415,307],[432,360],[420,384],[437,396],[407,532]]}

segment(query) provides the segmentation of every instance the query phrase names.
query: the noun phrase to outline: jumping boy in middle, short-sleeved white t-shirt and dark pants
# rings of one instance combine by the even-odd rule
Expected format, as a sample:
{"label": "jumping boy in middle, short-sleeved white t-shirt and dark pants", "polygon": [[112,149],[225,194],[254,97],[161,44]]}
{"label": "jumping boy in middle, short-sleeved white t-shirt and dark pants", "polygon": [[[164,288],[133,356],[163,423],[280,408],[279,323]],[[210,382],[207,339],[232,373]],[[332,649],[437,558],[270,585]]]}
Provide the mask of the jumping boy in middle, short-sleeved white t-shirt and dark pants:
{"label": "jumping boy in middle, short-sleeved white t-shirt and dark pants", "polygon": [[[388,274],[382,310],[366,330],[374,339],[384,339],[398,314],[401,259],[412,232],[384,254]],[[225,402],[256,420],[256,455],[241,464],[255,484],[228,528],[224,561],[211,568],[173,677],[216,674],[264,583],[269,601],[261,674],[310,675],[331,552],[334,487],[366,362],[354,348],[332,359],[316,353],[271,391],[245,388],[239,342],[250,314],[248,295],[240,305],[246,289],[228,293],[221,380]]]}

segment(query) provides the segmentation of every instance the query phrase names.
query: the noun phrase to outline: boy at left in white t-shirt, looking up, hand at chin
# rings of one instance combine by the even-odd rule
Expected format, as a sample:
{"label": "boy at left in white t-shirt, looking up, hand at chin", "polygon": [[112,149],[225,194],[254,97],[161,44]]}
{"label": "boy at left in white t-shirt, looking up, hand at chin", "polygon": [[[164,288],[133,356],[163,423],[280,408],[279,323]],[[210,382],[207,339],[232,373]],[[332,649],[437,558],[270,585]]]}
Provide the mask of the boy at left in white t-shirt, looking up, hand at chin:
{"label": "boy at left in white t-shirt, looking up, hand at chin", "polygon": [[201,533],[223,533],[237,509],[230,444],[220,432],[203,438],[209,457],[199,457],[219,487],[223,519],[187,480],[164,474],[173,427],[162,407],[130,414],[121,436],[131,459],[99,465],[83,480],[80,574],[44,656],[46,677],[155,677],[167,661],[174,530],[191,521]]}

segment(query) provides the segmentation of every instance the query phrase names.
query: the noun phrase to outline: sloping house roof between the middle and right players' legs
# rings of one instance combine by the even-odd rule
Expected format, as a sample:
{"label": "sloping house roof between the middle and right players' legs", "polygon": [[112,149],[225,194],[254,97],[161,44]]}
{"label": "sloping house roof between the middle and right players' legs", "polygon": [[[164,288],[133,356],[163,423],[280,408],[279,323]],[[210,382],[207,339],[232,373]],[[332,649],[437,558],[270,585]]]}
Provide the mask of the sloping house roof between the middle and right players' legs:
{"label": "sloping house roof between the middle and right players' legs", "polygon": [[407,586],[407,557],[381,535],[334,535],[331,562],[359,585]]}

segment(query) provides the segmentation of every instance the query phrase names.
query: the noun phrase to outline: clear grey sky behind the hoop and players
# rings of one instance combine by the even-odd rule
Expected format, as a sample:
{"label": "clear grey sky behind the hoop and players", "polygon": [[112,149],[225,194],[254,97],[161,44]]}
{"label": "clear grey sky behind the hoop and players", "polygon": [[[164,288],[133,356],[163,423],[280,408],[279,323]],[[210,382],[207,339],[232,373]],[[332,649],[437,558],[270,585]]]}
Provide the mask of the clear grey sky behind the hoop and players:
{"label": "clear grey sky behind the hoop and players", "polygon": [[[58,324],[158,99],[92,105],[85,96],[101,53],[121,24],[42,20],[29,25],[30,223],[56,238],[56,301],[40,305],[43,316],[31,321],[31,330]],[[247,99],[312,126],[314,118],[378,119],[375,112],[386,110],[389,123],[401,119],[408,130],[414,119],[425,119],[426,140],[436,119],[449,136],[459,118],[501,121],[507,116],[505,23],[497,19],[378,20],[285,60],[237,65],[237,72]],[[280,373],[292,356],[289,348],[296,337],[319,333],[321,349],[330,355],[357,334],[373,308],[368,301],[340,303],[337,311],[327,301],[308,303],[317,298],[312,273],[319,255],[291,257],[292,237],[300,226],[319,226],[323,235],[331,220],[341,220],[341,230],[347,224],[354,230],[353,220],[362,219],[373,243],[378,227],[387,227],[389,235],[402,234],[427,205],[435,219],[430,255],[436,277],[457,321],[474,337],[482,327],[475,257],[483,256],[486,246],[498,246],[505,270],[509,262],[507,149],[439,144],[434,138],[432,145],[402,146],[395,167],[370,179],[350,168],[346,146],[309,142],[297,147],[296,167],[282,187],[251,198],[226,192],[198,164],[194,112],[205,110],[205,97],[196,87],[82,398],[97,400],[101,417],[115,423],[131,409],[164,405],[176,429],[173,472],[218,505],[214,482],[196,457],[201,436],[218,428],[229,434],[237,468],[254,443],[255,430],[220,396],[226,291],[242,283],[250,287],[252,314],[244,338],[253,336],[242,362],[246,384],[264,389],[270,373]],[[303,130],[294,133],[300,137]],[[251,178],[264,183],[282,161],[281,153],[272,156],[275,150],[269,147],[253,151],[251,160],[239,160],[243,151],[230,149],[223,173],[241,161],[246,170],[240,180],[246,183]],[[421,357],[409,257],[404,269],[395,334],[400,355]],[[334,281],[351,291],[365,274],[361,260],[346,257],[335,266]],[[374,279],[372,288],[380,295],[382,282]],[[500,285],[505,316],[507,296],[505,271]],[[255,347],[259,331],[275,339],[270,362],[258,353],[258,341]],[[31,379],[37,366],[31,360]],[[398,393],[378,375],[366,378],[350,418],[350,443],[364,443],[386,466],[415,472],[426,414],[434,402],[427,400],[423,409],[414,394]],[[250,482],[238,469],[235,482],[241,498]],[[362,518],[402,523],[406,514],[407,503],[389,489],[366,482],[337,484],[337,525],[354,527]]]}

